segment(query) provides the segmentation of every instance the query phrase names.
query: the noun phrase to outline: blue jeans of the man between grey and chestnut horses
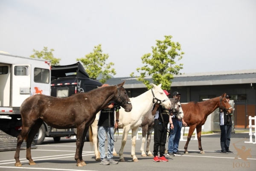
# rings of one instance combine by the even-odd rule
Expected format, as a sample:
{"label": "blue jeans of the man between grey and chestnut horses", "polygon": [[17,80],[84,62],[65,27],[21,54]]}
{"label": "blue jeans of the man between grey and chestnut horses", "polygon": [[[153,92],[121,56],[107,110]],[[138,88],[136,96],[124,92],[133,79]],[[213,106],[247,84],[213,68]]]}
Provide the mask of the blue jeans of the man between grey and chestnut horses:
{"label": "blue jeans of the man between grey and chestnut horses", "polygon": [[173,130],[170,130],[170,137],[168,142],[168,152],[178,152],[179,142],[180,142],[180,131],[182,128],[182,121],[172,119]]}

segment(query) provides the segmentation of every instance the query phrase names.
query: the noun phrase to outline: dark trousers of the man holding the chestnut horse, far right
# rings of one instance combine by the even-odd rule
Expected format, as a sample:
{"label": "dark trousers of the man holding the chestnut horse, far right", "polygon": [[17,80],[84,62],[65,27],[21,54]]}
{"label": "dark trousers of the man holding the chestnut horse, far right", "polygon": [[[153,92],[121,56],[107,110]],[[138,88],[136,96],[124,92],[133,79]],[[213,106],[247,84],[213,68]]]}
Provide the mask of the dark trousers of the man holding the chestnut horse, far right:
{"label": "dark trousers of the man holding the chestnut horse, far right", "polygon": [[221,128],[221,151],[229,151],[232,125],[220,125]]}

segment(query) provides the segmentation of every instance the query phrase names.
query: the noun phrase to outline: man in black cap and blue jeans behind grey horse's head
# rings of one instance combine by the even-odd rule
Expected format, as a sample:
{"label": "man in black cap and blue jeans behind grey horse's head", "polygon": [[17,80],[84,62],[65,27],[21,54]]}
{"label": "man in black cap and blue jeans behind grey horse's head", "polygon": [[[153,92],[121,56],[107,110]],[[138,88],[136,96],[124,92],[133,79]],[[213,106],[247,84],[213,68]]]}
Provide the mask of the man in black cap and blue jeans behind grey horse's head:
{"label": "man in black cap and blue jeans behind grey horse's head", "polygon": [[[180,95],[181,94],[179,92],[175,91],[172,94],[172,98],[174,98],[177,101],[180,101]],[[187,126],[187,124],[186,122],[184,122],[184,119],[175,118],[175,115],[172,115],[172,123],[174,128],[173,130],[171,130],[170,128],[167,156],[182,156],[182,154],[180,154],[178,151],[180,142],[180,131],[182,125]]]}

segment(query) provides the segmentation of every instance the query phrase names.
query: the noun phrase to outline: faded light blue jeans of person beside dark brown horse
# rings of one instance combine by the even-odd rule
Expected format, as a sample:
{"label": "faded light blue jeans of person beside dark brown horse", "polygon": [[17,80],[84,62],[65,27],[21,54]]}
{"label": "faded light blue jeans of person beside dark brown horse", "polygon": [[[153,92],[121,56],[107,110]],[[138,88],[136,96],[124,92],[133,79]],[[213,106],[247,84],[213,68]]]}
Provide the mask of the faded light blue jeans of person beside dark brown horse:
{"label": "faded light blue jeans of person beside dark brown horse", "polygon": [[[108,159],[113,158],[113,149],[114,149],[114,128],[113,127],[102,127],[98,126],[98,138],[99,138],[99,153],[100,153],[100,158],[104,159],[106,157],[105,154],[105,140],[106,140],[106,133],[107,133],[107,138],[108,138]],[[110,137],[111,133],[111,137]]]}

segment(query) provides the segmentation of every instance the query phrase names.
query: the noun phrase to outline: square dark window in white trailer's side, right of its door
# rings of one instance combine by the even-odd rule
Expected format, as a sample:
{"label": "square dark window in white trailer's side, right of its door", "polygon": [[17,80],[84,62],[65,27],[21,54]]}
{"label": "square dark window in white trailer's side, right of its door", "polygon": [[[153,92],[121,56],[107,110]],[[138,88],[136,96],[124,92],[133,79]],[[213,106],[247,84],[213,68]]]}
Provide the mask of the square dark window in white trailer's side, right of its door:
{"label": "square dark window in white trailer's side, right of its door", "polygon": [[34,81],[37,83],[49,83],[49,70],[43,68],[34,69]]}

